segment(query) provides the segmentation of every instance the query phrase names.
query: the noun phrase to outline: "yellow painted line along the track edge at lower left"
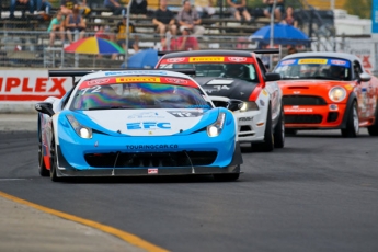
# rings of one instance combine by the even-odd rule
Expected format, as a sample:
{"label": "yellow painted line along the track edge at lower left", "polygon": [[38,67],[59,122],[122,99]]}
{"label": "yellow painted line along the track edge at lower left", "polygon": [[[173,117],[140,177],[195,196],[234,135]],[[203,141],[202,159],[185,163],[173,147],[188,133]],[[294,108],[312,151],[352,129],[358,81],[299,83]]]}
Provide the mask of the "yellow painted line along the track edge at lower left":
{"label": "yellow painted line along the track edge at lower left", "polygon": [[85,225],[85,226],[99,229],[99,230],[101,230],[103,232],[107,232],[110,234],[118,237],[122,240],[124,240],[124,241],[126,241],[126,242],[128,242],[128,243],[130,243],[130,244],[133,244],[135,247],[145,249],[147,251],[151,251],[151,252],[168,252],[168,250],[164,250],[164,249],[159,248],[159,247],[157,247],[157,245],[154,245],[154,244],[152,244],[152,243],[150,243],[148,241],[145,241],[145,240],[142,240],[141,238],[139,238],[137,236],[134,236],[134,234],[128,233],[128,232],[124,232],[124,231],[122,231],[119,229],[116,229],[116,228],[113,228],[111,226],[102,225],[102,224],[99,224],[99,222],[93,221],[93,220],[80,218],[80,217],[77,217],[77,216],[73,216],[73,215],[69,215],[69,214],[66,214],[66,213],[62,213],[62,211],[59,211],[59,210],[54,210],[51,208],[39,206],[37,204],[27,202],[25,199],[18,198],[18,197],[14,197],[12,195],[5,194],[5,193],[3,193],[1,191],[0,191],[0,196],[2,196],[4,198],[8,198],[10,201],[16,202],[16,203],[24,204],[26,206],[31,206],[31,207],[33,207],[35,209],[38,209],[38,210],[42,210],[42,211],[45,211],[45,213],[58,216],[60,218],[72,220],[75,222],[82,224],[82,225]]}

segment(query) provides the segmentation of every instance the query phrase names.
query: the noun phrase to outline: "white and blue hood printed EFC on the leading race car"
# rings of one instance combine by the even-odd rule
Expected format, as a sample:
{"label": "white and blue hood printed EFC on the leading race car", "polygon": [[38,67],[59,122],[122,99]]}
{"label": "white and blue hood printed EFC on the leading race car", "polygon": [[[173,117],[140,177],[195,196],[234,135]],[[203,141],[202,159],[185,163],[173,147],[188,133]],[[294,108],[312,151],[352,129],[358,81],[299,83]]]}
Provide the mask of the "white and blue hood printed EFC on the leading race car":
{"label": "white and blue hood printed EFC on the leading race car", "polygon": [[87,127],[108,135],[171,136],[191,134],[214,123],[218,108],[106,110],[76,112],[75,117]]}

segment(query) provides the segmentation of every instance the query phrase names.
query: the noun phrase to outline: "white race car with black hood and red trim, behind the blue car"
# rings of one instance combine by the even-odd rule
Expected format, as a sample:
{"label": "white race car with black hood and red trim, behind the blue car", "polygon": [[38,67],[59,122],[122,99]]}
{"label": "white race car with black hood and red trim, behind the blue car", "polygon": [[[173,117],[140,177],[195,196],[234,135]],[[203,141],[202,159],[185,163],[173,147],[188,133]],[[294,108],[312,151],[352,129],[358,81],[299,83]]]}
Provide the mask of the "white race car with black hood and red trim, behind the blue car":
{"label": "white race car with black hood and red trim, behind the blue car", "polygon": [[257,53],[277,54],[277,49],[192,50],[164,54],[159,69],[194,68],[194,79],[204,88],[215,105],[229,99],[243,101],[234,112],[240,142],[252,144],[254,150],[272,151],[285,144],[279,75],[267,72]]}

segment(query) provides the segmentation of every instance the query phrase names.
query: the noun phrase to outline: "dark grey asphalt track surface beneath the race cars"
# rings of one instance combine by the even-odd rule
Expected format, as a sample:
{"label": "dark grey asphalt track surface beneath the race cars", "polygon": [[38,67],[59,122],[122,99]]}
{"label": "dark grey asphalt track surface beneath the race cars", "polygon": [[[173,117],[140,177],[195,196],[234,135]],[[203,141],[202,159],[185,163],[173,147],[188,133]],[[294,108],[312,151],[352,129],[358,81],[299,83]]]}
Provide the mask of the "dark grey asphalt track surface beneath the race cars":
{"label": "dark grey asphalt track surface beneath the race cars", "polygon": [[[378,138],[303,131],[243,148],[237,182],[73,180],[37,173],[35,133],[0,133],[0,191],[130,232],[169,251],[378,251]],[[66,243],[57,242],[57,247]],[[15,244],[16,247],[16,244]]]}

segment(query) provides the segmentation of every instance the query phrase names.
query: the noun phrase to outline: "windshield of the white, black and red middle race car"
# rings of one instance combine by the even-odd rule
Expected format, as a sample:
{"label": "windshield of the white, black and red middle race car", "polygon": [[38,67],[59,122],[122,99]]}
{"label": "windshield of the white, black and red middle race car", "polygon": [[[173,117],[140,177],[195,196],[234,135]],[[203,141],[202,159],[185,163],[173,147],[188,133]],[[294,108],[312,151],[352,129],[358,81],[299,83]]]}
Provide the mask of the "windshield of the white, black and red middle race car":
{"label": "windshield of the white, black and red middle race car", "polygon": [[159,68],[194,68],[195,77],[237,78],[259,82],[256,69],[253,64],[234,62],[196,62],[196,64],[161,64]]}

